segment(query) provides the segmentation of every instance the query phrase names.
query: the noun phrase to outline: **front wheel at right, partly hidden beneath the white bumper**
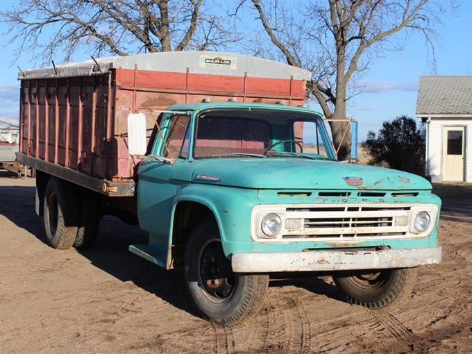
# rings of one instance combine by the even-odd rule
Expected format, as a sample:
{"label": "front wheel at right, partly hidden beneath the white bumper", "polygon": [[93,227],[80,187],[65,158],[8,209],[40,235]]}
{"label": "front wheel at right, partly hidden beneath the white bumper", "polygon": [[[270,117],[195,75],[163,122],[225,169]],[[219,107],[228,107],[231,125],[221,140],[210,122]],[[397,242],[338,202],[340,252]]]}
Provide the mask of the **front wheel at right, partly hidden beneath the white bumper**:
{"label": "front wheel at right, partly hidden beneath the white bumper", "polygon": [[349,303],[369,308],[397,303],[413,291],[418,268],[382,269],[332,276]]}

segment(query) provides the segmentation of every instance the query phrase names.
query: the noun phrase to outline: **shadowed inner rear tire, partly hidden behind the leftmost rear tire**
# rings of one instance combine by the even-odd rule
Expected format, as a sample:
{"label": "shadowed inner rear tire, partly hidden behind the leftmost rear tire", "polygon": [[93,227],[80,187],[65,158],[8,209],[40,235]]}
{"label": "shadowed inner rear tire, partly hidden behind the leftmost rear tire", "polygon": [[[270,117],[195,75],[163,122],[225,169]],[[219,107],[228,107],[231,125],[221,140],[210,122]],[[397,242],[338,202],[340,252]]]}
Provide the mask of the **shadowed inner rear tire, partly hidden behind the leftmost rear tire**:
{"label": "shadowed inner rear tire, partly hidden behind the leftmost rear tire", "polygon": [[100,195],[88,189],[81,188],[81,217],[74,247],[79,249],[91,248],[99,233],[101,217]]}

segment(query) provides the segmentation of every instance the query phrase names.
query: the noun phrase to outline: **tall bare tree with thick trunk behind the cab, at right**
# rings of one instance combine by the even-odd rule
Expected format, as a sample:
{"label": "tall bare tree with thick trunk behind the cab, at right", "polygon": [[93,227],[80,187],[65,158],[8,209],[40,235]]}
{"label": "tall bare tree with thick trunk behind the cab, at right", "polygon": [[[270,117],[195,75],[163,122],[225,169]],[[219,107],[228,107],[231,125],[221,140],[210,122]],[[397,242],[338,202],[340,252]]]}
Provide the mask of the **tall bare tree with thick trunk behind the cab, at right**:
{"label": "tall bare tree with thick trunk behind the cab, at right", "polygon": [[[354,79],[369,69],[374,55],[403,47],[394,34],[419,31],[434,51],[432,22],[443,12],[440,2],[430,0],[311,1],[302,9],[278,0],[251,1],[271,45],[289,65],[312,71],[309,93],[333,119],[346,117],[346,102],[362,90],[352,85]],[[348,124],[330,126],[339,146]],[[348,135],[340,146],[340,159],[348,157],[350,140]]]}

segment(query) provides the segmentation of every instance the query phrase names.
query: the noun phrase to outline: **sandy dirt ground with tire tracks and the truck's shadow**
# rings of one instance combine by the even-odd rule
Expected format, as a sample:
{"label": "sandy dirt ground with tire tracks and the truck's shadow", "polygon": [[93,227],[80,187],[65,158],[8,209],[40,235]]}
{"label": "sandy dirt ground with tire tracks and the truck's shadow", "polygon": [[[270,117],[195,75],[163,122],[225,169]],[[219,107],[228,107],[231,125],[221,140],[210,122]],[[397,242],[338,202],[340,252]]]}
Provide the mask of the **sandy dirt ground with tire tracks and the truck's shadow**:
{"label": "sandy dirt ground with tire tracks and the truck's shadow", "polygon": [[219,328],[201,319],[181,271],[128,252],[146,242],[106,217],[96,247],[44,243],[32,178],[0,172],[0,353],[466,353],[472,351],[472,186],[444,201],[441,264],[422,267],[405,303],[367,310],[330,278],[271,280],[254,319]]}

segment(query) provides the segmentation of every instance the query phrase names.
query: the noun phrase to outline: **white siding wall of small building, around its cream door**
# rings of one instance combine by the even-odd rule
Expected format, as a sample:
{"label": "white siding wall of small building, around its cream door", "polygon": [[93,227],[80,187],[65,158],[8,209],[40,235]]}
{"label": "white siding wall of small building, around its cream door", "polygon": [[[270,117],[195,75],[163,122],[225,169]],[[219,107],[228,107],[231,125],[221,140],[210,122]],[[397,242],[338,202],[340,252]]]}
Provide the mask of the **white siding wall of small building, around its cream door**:
{"label": "white siding wall of small building, around its cream door", "polygon": [[466,182],[472,182],[472,118],[431,118],[428,128],[428,156],[427,166],[433,182],[442,181],[442,158],[444,149],[444,127],[445,126],[465,126],[465,157],[466,157]]}

